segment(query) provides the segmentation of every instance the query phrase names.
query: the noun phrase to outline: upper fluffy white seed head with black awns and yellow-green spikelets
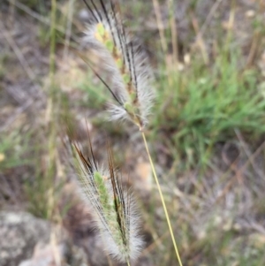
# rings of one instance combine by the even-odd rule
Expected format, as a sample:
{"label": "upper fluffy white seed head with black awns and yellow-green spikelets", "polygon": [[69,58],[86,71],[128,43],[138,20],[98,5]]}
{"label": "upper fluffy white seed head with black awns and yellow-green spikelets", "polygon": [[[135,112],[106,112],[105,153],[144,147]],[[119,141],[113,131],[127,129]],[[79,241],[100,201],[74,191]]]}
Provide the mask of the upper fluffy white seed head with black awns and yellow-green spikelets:
{"label": "upper fluffy white seed head with black awns and yellow-green spikelets", "polygon": [[117,102],[109,105],[111,119],[129,118],[142,129],[148,123],[154,98],[147,57],[125,33],[117,6],[112,1],[110,11],[102,0],[96,1],[101,9],[93,0],[84,2],[93,17],[84,41],[97,52],[111,75],[110,82],[98,75]]}

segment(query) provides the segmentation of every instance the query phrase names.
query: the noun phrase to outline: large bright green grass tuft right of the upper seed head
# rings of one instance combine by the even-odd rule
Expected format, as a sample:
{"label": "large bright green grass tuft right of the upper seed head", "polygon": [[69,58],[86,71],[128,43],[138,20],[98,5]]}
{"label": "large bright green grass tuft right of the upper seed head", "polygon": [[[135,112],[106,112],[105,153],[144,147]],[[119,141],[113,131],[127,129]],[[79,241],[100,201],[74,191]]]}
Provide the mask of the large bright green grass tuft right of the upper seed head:
{"label": "large bright green grass tuft right of the upper seed head", "polygon": [[236,129],[252,141],[265,132],[260,74],[240,68],[240,56],[238,49],[220,49],[213,65],[194,57],[184,72],[170,72],[170,86],[160,77],[152,126],[169,136],[161,141],[176,159],[205,164],[215,144],[233,139]]}

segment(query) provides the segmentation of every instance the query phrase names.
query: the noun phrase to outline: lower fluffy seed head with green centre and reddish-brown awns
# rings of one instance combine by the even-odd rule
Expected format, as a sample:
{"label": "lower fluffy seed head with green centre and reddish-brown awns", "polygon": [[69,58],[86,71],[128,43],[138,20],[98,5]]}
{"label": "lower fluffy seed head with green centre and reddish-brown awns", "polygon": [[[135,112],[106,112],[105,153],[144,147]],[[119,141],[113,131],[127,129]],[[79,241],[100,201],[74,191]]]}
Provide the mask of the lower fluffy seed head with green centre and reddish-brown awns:
{"label": "lower fluffy seed head with green centre and reddish-brown awns", "polygon": [[143,242],[132,194],[122,185],[114,169],[110,148],[108,170],[103,171],[95,162],[90,141],[89,144],[90,155],[86,157],[77,143],[72,142],[80,191],[95,212],[95,224],[102,234],[106,251],[120,262],[135,260]]}

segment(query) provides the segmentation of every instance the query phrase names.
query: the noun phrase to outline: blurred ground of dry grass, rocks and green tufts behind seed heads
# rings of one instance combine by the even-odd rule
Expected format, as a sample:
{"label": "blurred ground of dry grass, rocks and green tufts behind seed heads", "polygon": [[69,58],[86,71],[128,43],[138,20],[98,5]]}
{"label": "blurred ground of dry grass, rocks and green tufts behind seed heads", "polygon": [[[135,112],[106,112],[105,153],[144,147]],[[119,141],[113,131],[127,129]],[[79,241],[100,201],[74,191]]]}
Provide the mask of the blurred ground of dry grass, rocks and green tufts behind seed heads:
{"label": "blurred ground of dry grass, rocks and green tufts behind seed heads", "polygon": [[[154,74],[146,134],[183,265],[265,265],[264,0],[119,4]],[[69,121],[98,160],[109,140],[130,177],[146,242],[133,265],[178,265],[140,133],[108,121],[83,60],[100,72],[82,39],[90,16],[81,0],[1,1],[0,266],[123,265],[80,199]]]}

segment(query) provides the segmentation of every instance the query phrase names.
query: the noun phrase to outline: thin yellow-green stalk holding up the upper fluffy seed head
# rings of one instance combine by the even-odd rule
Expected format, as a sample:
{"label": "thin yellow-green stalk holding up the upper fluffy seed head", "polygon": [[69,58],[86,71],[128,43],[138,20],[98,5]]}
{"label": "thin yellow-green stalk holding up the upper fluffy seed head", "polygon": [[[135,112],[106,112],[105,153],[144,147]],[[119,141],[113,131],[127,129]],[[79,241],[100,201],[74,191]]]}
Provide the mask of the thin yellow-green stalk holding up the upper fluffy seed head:
{"label": "thin yellow-green stalk holding up the upper fluffy seed head", "polygon": [[175,240],[175,237],[174,237],[174,234],[173,234],[173,230],[172,230],[172,226],[171,226],[171,223],[170,223],[170,217],[169,217],[169,214],[168,214],[168,210],[167,210],[167,207],[166,207],[165,202],[164,202],[161,186],[159,184],[159,181],[157,179],[157,175],[156,175],[156,172],[155,172],[155,166],[154,166],[152,157],[150,156],[146,135],[145,135],[145,133],[143,131],[141,131],[141,135],[142,135],[143,141],[145,143],[145,148],[146,148],[146,150],[148,152],[149,162],[151,164],[151,168],[152,168],[152,171],[153,171],[153,174],[154,174],[154,178],[155,178],[155,183],[156,183],[156,186],[157,186],[157,189],[158,189],[158,192],[159,192],[162,204],[163,204],[163,210],[164,210],[164,213],[165,213],[165,217],[167,219],[167,223],[169,225],[170,236],[171,236],[171,239],[172,239],[172,242],[173,242],[173,246],[175,248],[175,252],[176,252],[176,255],[177,255],[177,258],[178,258],[178,263],[179,263],[180,266],[183,266],[182,262],[181,262],[181,259],[180,259],[180,256],[179,256],[179,253],[178,253],[178,247],[177,247],[176,240]]}

